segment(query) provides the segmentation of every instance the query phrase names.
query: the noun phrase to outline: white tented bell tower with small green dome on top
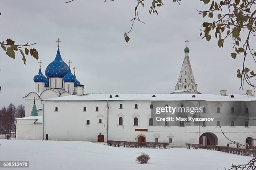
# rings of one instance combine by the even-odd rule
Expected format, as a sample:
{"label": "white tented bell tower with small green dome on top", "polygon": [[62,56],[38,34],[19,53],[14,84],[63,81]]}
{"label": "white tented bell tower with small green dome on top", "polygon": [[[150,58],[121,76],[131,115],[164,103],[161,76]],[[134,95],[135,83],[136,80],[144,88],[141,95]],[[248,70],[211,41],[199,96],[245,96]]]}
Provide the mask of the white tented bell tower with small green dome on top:
{"label": "white tented bell tower with small green dome on top", "polygon": [[175,91],[173,93],[200,93],[197,92],[197,84],[195,82],[195,78],[192,72],[192,67],[189,61],[189,48],[188,48],[188,40],[186,42],[186,47],[184,49],[185,57],[182,63],[182,68],[179,72],[179,78],[177,84],[175,85]]}

